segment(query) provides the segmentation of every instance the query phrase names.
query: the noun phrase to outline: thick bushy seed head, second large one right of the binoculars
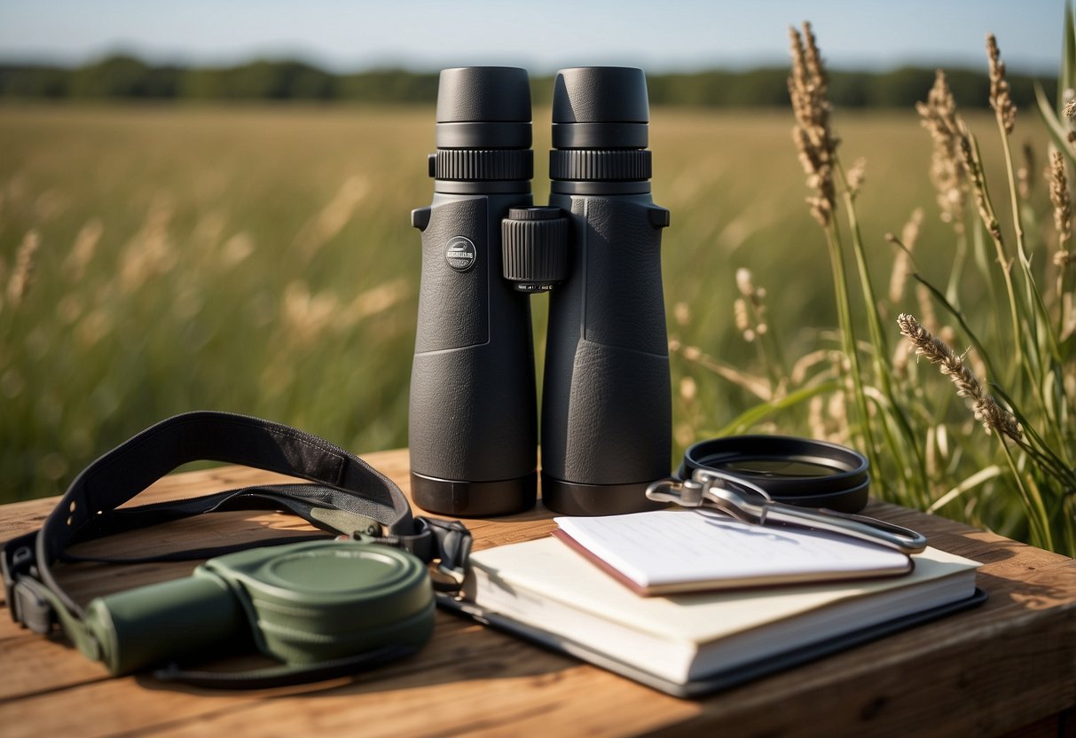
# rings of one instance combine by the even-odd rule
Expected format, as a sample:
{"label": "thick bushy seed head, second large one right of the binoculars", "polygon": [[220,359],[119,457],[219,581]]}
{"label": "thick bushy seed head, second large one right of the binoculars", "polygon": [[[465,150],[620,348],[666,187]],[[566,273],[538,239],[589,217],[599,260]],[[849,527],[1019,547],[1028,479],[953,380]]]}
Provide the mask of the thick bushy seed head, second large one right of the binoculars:
{"label": "thick bushy seed head, second large one right of the binoculars", "polygon": [[926,102],[916,103],[919,122],[931,133],[931,182],[937,190],[942,219],[952,223],[958,232],[964,229],[964,203],[967,200],[967,173],[961,158],[957,101],[940,69],[935,72],[934,86]]}

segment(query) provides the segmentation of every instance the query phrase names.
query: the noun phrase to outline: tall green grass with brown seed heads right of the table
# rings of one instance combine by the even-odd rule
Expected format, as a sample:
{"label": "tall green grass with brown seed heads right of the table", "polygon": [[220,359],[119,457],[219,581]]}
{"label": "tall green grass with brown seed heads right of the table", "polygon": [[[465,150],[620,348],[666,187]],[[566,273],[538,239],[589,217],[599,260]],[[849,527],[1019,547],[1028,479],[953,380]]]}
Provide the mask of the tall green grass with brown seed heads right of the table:
{"label": "tall green grass with brown seed heads right of the table", "polygon": [[[1076,79],[1071,9],[1066,16],[1063,84]],[[725,430],[777,413],[782,421],[787,412],[802,417],[806,406],[816,436],[836,436],[866,452],[876,488],[888,499],[1076,555],[1076,317],[1063,164],[1076,151],[1071,117],[1050,111],[1047,118],[1063,153],[1050,157],[1046,197],[1035,182],[1034,156],[1025,153],[1019,166],[1014,155],[1017,113],[993,36],[987,56],[1001,146],[995,156],[980,150],[939,73],[919,113],[932,137],[931,179],[950,237],[924,238],[916,211],[902,238],[889,237],[900,251],[883,299],[860,216],[859,199],[872,185],[864,185],[859,166],[846,169],[838,154],[810,26],[803,33],[793,29],[791,39],[793,140],[808,175],[809,211],[829,252],[837,329],[826,350],[787,368],[783,379],[769,383],[778,387],[773,396],[758,393],[763,401]],[[1073,97],[1063,88],[1059,110]],[[1062,126],[1068,132],[1059,134]],[[994,186],[991,166],[1004,174],[1003,187]],[[894,185],[882,179],[874,186]],[[947,257],[948,269],[929,264],[924,246]],[[916,270],[914,290],[907,289],[909,269]],[[930,364],[910,361],[909,351],[937,365],[955,393],[931,377]],[[725,375],[745,387],[760,379]]]}

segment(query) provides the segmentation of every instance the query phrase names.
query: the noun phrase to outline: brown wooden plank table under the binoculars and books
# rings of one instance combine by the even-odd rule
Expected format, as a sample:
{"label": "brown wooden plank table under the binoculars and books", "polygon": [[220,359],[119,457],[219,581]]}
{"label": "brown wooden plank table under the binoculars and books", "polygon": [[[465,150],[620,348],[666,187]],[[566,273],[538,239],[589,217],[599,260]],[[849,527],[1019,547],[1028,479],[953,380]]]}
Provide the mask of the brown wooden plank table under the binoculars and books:
{"label": "brown wooden plank table under the binoculars and books", "polygon": [[[365,457],[408,489],[406,450]],[[136,499],[192,496],[267,472],[223,467],[173,474]],[[31,530],[55,499],[0,507],[0,540]],[[251,693],[111,679],[66,645],[0,618],[0,736],[690,735],[1020,736],[1076,734],[1076,562],[989,533],[872,502],[933,545],[983,564],[982,607],[707,699],[682,700],[468,620],[438,612],[415,657],[355,679]],[[548,534],[536,510],[468,526],[476,549]],[[226,530],[305,527],[277,513],[218,513],[93,545],[130,553],[183,548]],[[185,576],[192,564],[69,567],[80,601]]]}

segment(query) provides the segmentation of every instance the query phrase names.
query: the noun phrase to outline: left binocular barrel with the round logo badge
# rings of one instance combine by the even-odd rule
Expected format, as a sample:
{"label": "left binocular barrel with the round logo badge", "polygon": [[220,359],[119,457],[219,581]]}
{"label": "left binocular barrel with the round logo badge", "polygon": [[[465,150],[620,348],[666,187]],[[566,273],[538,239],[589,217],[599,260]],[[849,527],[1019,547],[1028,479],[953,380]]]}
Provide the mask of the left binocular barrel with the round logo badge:
{"label": "left binocular barrel with the round logo badge", "polygon": [[537,494],[530,306],[502,278],[500,227],[534,202],[530,85],[523,69],[441,72],[434,201],[422,231],[411,367],[411,492],[453,515],[526,510]]}

